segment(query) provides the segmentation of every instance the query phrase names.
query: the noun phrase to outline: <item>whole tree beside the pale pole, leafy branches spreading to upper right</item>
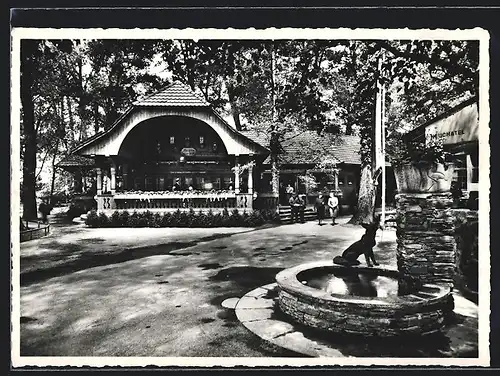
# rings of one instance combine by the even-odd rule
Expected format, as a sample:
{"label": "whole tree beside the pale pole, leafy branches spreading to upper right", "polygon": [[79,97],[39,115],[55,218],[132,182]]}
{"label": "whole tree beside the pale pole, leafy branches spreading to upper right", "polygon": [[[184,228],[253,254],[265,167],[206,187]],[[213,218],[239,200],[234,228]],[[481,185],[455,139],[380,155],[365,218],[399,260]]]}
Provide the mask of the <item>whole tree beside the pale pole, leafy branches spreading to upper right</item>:
{"label": "whole tree beside the pale pole, leafy branches spreading to upper right", "polygon": [[[384,52],[382,69],[378,59]],[[343,72],[356,82],[351,113],[346,119],[359,126],[361,181],[358,212],[352,223],[373,221],[378,171],[373,170],[373,125],[377,82],[390,85],[402,97],[387,98],[387,136],[398,137],[401,123],[415,127],[456,102],[477,94],[478,44],[474,41],[366,41],[353,42],[346,50]],[[391,104],[395,106],[391,107]]]}

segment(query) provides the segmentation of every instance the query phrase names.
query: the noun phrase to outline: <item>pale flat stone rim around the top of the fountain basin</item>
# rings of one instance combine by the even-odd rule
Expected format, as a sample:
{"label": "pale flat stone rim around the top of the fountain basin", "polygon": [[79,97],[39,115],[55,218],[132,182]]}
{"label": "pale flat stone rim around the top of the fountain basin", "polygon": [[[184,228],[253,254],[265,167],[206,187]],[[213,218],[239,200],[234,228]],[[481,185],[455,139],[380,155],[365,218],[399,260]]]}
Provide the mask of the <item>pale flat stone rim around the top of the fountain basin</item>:
{"label": "pale flat stone rim around the top of the fountain basin", "polygon": [[448,286],[441,286],[441,285],[436,285],[432,283],[426,283],[421,286],[421,289],[415,291],[415,293],[418,293],[419,291],[422,291],[422,288],[430,288],[433,290],[436,290],[435,293],[433,293],[433,297],[426,298],[422,301],[412,301],[410,299],[407,299],[406,297],[412,295],[401,295],[401,296],[394,296],[394,297],[387,297],[387,298],[378,298],[378,297],[360,297],[360,296],[346,296],[346,295],[340,295],[340,294],[331,294],[322,290],[319,290],[314,287],[310,287],[307,285],[304,285],[301,283],[297,275],[301,272],[304,271],[309,271],[312,269],[324,269],[324,268],[331,268],[332,270],[345,270],[345,269],[352,269],[355,271],[359,272],[364,272],[364,271],[381,271],[382,273],[380,275],[392,275],[394,277],[400,276],[400,273],[396,269],[388,269],[388,268],[380,268],[380,267],[367,267],[367,266],[350,266],[350,267],[345,267],[342,265],[337,265],[334,264],[332,261],[315,261],[315,262],[309,262],[309,263],[304,263],[300,264],[285,270],[282,270],[276,275],[276,283],[278,287],[284,291],[287,291],[292,294],[299,294],[302,296],[309,296],[313,299],[317,299],[319,301],[323,301],[325,303],[328,302],[335,302],[335,303],[345,303],[345,304],[367,304],[367,305],[401,305],[404,304],[407,307],[418,307],[421,305],[428,305],[432,304],[434,302],[440,301],[445,295],[451,293],[451,288]]}

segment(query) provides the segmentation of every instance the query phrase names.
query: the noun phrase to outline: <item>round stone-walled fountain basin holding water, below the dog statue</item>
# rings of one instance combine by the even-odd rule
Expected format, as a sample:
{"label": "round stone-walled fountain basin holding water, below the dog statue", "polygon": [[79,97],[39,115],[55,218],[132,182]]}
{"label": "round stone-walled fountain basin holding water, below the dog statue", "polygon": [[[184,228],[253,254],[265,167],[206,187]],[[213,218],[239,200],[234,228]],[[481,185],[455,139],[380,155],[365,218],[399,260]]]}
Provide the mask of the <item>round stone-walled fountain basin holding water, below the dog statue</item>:
{"label": "round stone-walled fountain basin holding water, below the dog statue", "polygon": [[281,271],[276,283],[283,313],[335,333],[426,335],[441,330],[453,310],[449,287],[417,284],[380,267],[307,263]]}

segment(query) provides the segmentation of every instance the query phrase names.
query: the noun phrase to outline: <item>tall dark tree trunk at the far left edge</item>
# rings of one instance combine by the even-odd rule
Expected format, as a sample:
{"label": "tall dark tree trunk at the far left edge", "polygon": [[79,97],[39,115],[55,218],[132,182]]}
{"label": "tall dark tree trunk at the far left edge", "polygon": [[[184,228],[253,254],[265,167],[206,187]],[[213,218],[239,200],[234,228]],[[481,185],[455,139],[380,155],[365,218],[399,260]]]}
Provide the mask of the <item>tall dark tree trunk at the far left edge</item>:
{"label": "tall dark tree trunk at the far left edge", "polygon": [[23,186],[22,197],[23,218],[36,219],[36,151],[37,135],[35,129],[35,110],[33,105],[33,74],[34,64],[32,53],[38,42],[34,40],[22,41],[21,47],[21,103],[23,106],[24,130],[24,158],[23,158]]}

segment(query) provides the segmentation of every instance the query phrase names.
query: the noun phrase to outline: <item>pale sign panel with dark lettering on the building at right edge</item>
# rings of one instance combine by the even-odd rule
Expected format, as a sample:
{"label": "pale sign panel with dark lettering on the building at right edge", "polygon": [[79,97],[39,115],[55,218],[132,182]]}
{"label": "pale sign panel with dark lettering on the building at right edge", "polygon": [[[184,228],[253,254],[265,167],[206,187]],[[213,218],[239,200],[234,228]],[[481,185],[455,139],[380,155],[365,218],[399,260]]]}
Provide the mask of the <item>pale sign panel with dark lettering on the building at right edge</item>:
{"label": "pale sign panel with dark lettering on the building at right edge", "polygon": [[477,103],[438,120],[425,128],[426,142],[441,140],[445,145],[477,141],[479,137],[479,116]]}

